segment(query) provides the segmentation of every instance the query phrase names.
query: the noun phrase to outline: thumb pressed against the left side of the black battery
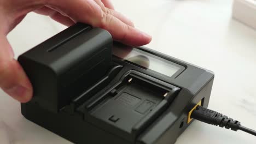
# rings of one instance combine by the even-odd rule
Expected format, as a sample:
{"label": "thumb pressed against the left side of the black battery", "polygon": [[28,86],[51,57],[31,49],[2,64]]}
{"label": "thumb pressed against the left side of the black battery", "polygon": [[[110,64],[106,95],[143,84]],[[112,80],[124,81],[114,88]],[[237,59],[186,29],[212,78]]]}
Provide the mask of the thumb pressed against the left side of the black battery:
{"label": "thumb pressed against the left side of the black battery", "polygon": [[0,35],[0,87],[21,103],[32,98],[32,85],[25,71],[14,59],[13,51],[5,35]]}

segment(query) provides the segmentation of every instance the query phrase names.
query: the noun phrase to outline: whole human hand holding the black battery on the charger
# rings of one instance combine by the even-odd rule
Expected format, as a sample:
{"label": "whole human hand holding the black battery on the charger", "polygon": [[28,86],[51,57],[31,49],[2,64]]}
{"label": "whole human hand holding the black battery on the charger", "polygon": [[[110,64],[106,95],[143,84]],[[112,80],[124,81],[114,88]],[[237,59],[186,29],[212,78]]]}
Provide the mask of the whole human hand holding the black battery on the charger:
{"label": "whole human hand holding the black battery on the charger", "polygon": [[24,70],[14,59],[6,35],[34,11],[48,15],[66,26],[83,22],[106,29],[114,40],[139,46],[151,37],[134,28],[133,23],[114,10],[109,0],[0,0],[0,87],[21,103],[30,101],[33,89]]}

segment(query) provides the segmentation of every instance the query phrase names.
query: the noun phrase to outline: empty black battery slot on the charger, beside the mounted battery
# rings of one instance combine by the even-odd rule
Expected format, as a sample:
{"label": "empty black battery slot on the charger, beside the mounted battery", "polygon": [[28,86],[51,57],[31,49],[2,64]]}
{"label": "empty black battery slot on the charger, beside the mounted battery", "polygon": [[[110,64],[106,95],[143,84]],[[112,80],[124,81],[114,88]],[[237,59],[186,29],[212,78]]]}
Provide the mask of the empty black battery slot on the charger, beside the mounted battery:
{"label": "empty black battery slot on the charger, beside the mounted battery", "polygon": [[135,140],[166,110],[178,91],[179,88],[154,77],[130,71],[93,103],[85,105],[85,120]]}

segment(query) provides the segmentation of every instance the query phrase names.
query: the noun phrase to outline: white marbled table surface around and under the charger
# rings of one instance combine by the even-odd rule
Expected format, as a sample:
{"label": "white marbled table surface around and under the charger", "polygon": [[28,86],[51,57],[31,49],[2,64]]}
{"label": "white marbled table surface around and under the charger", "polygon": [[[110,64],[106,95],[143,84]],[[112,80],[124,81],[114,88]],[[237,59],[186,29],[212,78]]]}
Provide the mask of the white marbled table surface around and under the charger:
{"label": "white marbled table surface around and under the charger", "polygon": [[[210,109],[256,129],[256,31],[231,18],[231,0],[114,0],[135,26],[153,35],[151,49],[216,74]],[[29,14],[9,35],[16,57],[64,26]],[[20,113],[20,104],[0,91],[0,143],[71,143]],[[178,143],[256,143],[256,137],[194,122]]]}

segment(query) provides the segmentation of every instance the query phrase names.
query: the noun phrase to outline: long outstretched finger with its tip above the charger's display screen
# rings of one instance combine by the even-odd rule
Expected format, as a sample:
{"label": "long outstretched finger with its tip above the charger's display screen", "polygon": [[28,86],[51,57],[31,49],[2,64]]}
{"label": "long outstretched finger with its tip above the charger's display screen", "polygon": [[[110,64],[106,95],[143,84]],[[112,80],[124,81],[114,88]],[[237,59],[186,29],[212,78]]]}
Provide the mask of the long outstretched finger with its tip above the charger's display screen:
{"label": "long outstretched finger with its tip above the charger's display screen", "polygon": [[101,7],[95,2],[90,0],[56,0],[50,1],[49,5],[62,10],[62,13],[67,14],[72,19],[79,22],[88,23],[94,27],[101,27],[106,29],[112,34],[113,38],[121,43],[139,46],[148,44],[151,37],[126,25],[121,20],[113,15],[104,13]]}

